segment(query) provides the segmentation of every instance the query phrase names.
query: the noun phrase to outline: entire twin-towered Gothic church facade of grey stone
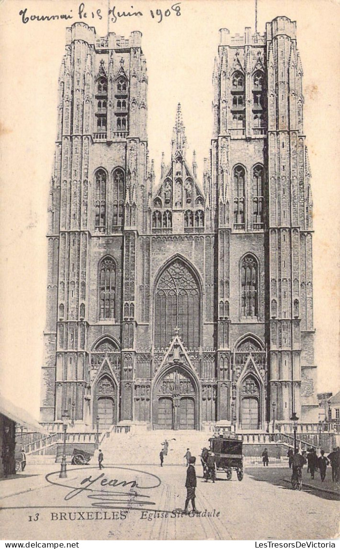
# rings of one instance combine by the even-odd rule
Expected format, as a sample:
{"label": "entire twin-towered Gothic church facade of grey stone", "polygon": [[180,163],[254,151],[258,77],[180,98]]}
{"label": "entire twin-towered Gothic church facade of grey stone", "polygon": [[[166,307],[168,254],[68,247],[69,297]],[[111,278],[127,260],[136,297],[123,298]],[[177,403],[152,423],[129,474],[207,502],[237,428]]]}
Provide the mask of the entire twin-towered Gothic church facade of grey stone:
{"label": "entire twin-towered Gothic church facade of grey stone", "polygon": [[141,33],[67,29],[41,421],[314,419],[312,201],[296,24],[220,30],[203,177],[178,106],[155,181]]}

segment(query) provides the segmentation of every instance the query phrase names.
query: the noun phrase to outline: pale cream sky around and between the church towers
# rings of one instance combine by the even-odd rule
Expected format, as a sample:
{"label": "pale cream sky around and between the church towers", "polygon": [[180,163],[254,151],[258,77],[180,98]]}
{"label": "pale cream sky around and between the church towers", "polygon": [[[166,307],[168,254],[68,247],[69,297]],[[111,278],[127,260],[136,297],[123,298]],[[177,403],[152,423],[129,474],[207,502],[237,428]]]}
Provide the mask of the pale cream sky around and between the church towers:
{"label": "pale cream sky around and between the church towers", "polygon": [[[58,75],[65,28],[76,22],[81,2],[0,2],[0,390],[38,418],[43,330],[46,322],[47,199],[56,138]],[[98,35],[107,32],[107,1],[86,1],[82,13]],[[148,64],[150,158],[159,173],[170,155],[177,103],[182,104],[191,161],[199,178],[212,137],[212,71],[221,27],[231,35],[254,30],[254,0],[183,0],[180,15],[167,0],[109,2],[119,18],[110,31],[143,33]],[[133,9],[131,8],[133,6]],[[26,16],[69,14],[72,20],[31,21]],[[97,10],[103,19],[97,16]],[[162,21],[156,10],[162,10]],[[170,15],[165,16],[169,9]],[[71,12],[72,10],[72,12]],[[155,15],[153,19],[150,10]],[[92,18],[92,12],[94,18]],[[160,12],[158,12],[159,14]],[[278,15],[297,21],[304,69],[304,131],[314,201],[313,277],[315,363],[318,392],[340,387],[339,372],[339,15],[328,0],[258,0],[258,31]]]}

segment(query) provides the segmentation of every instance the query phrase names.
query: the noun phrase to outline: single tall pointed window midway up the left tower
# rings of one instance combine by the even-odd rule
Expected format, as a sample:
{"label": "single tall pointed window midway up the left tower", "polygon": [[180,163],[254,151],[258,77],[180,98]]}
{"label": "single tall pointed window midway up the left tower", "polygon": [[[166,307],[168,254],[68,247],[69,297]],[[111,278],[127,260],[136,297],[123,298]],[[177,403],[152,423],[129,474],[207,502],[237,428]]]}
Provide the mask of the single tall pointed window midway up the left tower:
{"label": "single tall pointed window midway up the left tower", "polygon": [[99,318],[115,318],[116,264],[112,257],[104,257],[99,264]]}

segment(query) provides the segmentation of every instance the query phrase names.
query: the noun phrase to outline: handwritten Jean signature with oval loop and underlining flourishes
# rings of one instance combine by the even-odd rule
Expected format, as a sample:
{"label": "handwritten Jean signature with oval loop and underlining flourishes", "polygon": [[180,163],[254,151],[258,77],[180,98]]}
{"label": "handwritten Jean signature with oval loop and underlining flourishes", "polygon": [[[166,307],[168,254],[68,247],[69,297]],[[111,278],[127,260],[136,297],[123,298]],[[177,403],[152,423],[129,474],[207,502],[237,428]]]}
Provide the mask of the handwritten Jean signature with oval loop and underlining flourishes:
{"label": "handwritten Jean signature with oval loop and underlining flourishes", "polygon": [[69,469],[67,474],[67,479],[60,479],[59,471],[48,473],[45,478],[50,484],[70,490],[64,497],[65,501],[86,494],[92,507],[107,509],[154,506],[156,504],[150,496],[140,491],[153,490],[161,484],[161,479],[152,473],[125,467],[106,467],[105,473],[100,474],[93,467]]}

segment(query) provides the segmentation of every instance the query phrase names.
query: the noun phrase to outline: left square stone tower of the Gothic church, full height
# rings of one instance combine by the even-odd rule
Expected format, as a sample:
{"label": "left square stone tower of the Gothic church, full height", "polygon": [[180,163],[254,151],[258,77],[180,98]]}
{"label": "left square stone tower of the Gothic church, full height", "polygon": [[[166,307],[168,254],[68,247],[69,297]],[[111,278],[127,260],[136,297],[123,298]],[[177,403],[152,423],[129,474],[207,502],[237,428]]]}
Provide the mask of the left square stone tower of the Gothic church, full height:
{"label": "left square stone tower of the Gothic church, full height", "polygon": [[118,421],[118,395],[122,417],[132,416],[131,367],[121,362],[134,346],[147,86],[140,32],[101,38],[84,23],[67,29],[48,209],[44,422],[67,409],[73,421],[94,424],[109,400],[94,401],[93,390],[110,395],[111,423]]}

